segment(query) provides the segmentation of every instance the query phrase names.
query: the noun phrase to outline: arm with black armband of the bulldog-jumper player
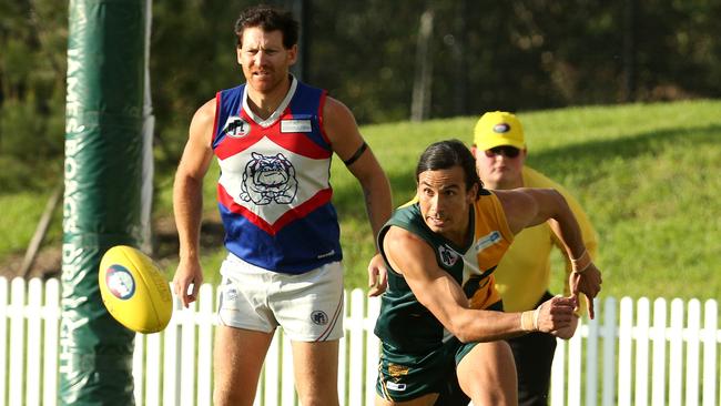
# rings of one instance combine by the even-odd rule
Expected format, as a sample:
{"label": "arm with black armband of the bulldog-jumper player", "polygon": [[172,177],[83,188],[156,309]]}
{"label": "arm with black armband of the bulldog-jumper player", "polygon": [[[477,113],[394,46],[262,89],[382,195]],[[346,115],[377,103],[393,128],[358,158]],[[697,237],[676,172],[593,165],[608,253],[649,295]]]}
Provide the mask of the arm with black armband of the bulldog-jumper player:
{"label": "arm with black armband of the bulldog-jumper player", "polygon": [[[333,150],[343,161],[347,161],[364,144],[353,113],[339,101],[328,98],[324,112],[324,128]],[[368,221],[373,229],[374,241],[380,227],[390,217],[390,183],[385,172],[368,146],[355,161],[347,165],[363,189]],[[387,271],[380,255],[376,254],[368,265],[369,295],[377,296],[386,288]]]}

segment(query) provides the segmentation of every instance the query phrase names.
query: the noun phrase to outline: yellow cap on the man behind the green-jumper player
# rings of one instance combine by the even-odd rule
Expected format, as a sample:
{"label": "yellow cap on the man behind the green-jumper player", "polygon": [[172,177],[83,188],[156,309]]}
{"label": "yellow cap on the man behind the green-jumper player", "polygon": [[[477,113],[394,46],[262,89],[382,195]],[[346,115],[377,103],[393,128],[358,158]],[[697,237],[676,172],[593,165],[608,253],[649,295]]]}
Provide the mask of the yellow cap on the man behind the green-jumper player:
{"label": "yellow cap on the man behind the green-jumper player", "polygon": [[510,145],[526,148],[524,128],[515,114],[506,111],[488,112],[480,116],[474,129],[474,144],[479,150]]}

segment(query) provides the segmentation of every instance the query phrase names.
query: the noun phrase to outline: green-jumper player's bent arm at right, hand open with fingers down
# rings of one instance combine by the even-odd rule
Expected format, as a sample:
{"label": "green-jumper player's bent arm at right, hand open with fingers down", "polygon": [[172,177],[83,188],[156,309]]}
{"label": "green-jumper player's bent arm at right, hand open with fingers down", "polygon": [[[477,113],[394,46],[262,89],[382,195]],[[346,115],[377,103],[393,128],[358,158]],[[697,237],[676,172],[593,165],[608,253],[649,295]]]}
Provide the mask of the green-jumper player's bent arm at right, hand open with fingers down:
{"label": "green-jumper player's bent arm at right, hand open with fingers down", "polygon": [[[556,235],[563,244],[568,257],[581,260],[588,255],[583,244],[581,230],[566,203],[566,199],[552,189],[516,189],[508,191],[494,191],[500,200],[506,220],[514,233],[529,226],[549,221]],[[601,290],[601,274],[590,260],[582,261],[582,268],[573,272],[570,277],[571,293],[577,296],[579,292],[585,293],[589,301],[587,303],[589,316],[593,318],[592,298]]]}

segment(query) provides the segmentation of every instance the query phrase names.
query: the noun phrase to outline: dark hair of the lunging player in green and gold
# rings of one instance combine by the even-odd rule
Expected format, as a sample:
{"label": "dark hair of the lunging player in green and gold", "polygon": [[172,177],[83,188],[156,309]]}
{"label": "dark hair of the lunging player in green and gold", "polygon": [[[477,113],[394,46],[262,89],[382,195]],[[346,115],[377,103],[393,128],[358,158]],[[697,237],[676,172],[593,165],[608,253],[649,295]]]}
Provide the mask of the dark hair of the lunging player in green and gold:
{"label": "dark hair of the lunging player in green and gold", "polygon": [[416,183],[418,176],[426,171],[439,171],[454,166],[460,166],[466,177],[466,191],[475,184],[478,185],[478,193],[484,187],[484,182],[476,170],[476,159],[470,150],[459,140],[444,140],[435,142],[420,154],[416,166]]}

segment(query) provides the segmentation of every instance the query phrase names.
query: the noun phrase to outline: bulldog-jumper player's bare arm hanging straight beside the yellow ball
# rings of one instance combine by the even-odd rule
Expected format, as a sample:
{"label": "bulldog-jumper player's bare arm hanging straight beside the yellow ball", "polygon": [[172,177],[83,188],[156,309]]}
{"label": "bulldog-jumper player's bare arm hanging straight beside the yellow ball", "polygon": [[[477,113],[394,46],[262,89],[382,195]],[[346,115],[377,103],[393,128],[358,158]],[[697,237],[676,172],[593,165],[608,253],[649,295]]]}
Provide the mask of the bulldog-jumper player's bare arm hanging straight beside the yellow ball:
{"label": "bulldog-jumper player's bare arm hanging straight beside the yellow ball", "polygon": [[[193,116],[183,156],[173,183],[173,212],[180,241],[180,263],[173,277],[175,294],[183,306],[195,301],[203,283],[200,264],[200,229],[203,211],[203,177],[213,156],[211,139],[215,100],[203,104]],[[193,290],[189,292],[189,287]]]}

